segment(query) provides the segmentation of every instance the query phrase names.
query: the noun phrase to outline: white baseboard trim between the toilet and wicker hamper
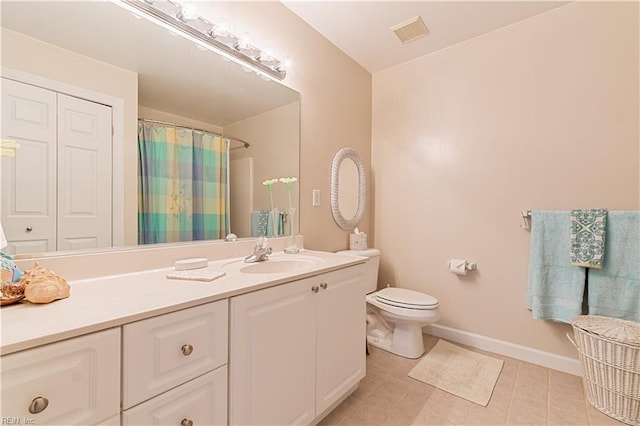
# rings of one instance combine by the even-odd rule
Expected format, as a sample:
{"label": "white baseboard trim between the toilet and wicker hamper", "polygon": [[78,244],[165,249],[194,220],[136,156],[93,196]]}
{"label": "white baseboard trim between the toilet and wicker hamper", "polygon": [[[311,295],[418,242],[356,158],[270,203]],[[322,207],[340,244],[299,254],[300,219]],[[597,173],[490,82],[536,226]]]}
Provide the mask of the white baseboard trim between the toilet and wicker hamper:
{"label": "white baseboard trim between the toilet and wicker hamper", "polygon": [[427,334],[432,336],[441,337],[452,342],[471,346],[472,348],[508,356],[521,361],[551,368],[553,370],[573,374],[575,376],[582,375],[580,363],[574,358],[556,355],[550,352],[544,352],[527,346],[516,345],[515,343],[505,342],[504,340],[456,330],[455,328],[445,327],[438,324],[432,324],[429,327],[425,327],[425,331]]}

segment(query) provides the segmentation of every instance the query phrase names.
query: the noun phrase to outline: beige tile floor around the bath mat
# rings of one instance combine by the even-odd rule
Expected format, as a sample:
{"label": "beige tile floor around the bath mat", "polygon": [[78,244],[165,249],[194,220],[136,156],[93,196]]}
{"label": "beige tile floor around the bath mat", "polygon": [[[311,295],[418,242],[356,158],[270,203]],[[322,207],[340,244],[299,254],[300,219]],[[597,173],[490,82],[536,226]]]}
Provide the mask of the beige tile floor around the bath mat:
{"label": "beige tile floor around the bath mat", "polygon": [[[425,335],[427,351],[437,341]],[[504,360],[482,407],[407,376],[420,360],[370,351],[358,390],[320,425],[624,425],[586,402],[577,376],[476,350]]]}

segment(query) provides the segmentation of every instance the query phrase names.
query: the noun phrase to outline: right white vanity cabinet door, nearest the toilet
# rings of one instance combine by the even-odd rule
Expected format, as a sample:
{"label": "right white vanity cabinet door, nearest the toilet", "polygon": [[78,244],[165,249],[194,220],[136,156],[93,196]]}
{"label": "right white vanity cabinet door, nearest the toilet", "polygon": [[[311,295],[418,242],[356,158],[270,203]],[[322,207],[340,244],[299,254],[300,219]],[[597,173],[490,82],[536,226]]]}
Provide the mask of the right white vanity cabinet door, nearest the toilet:
{"label": "right white vanity cabinet door, nearest the toilet", "polygon": [[363,265],[316,278],[318,294],[316,412],[322,413],[365,374]]}

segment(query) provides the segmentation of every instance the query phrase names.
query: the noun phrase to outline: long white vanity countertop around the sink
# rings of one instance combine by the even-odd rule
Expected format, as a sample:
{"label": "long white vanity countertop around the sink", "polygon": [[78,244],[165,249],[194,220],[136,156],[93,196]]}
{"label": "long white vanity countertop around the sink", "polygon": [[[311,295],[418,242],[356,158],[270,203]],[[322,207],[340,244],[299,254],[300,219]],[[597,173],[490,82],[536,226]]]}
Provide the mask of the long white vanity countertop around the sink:
{"label": "long white vanity countertop around the sink", "polygon": [[[48,304],[21,302],[3,306],[1,353],[29,349],[129,322],[229,298],[278,284],[363,263],[366,259],[302,250],[274,253],[272,258],[309,258],[293,272],[244,273],[243,258],[209,262],[209,269],[226,275],[210,282],[167,279],[173,265],[163,269],[69,281],[71,296]],[[268,261],[267,261],[268,262]]]}

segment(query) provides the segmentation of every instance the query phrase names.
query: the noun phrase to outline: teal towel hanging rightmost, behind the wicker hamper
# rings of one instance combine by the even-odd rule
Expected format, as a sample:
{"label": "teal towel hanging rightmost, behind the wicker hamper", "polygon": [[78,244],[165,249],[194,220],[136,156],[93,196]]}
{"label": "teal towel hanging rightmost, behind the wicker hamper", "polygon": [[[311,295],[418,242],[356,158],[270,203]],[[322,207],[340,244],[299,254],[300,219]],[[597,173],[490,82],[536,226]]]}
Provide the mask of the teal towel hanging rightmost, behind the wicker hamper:
{"label": "teal towel hanging rightmost, behind the wicker hamper", "polygon": [[589,314],[640,322],[640,212],[609,212],[607,258],[589,271]]}

